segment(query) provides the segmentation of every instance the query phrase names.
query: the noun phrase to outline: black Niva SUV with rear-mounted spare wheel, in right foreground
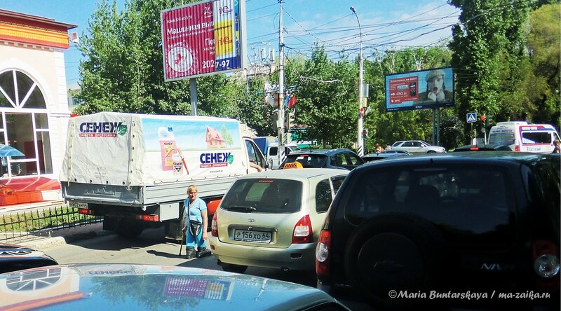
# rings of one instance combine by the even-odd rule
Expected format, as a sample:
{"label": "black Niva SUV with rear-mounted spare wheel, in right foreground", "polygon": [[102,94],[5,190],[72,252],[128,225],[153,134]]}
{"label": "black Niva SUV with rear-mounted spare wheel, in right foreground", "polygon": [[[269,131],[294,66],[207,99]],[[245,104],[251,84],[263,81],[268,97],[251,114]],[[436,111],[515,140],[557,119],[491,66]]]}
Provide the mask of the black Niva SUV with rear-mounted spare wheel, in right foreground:
{"label": "black Niva SUV with rear-mounted spare wheel, in right foreground", "polygon": [[320,233],[318,288],[350,286],[385,308],[499,302],[560,310],[559,161],[488,151],[357,167]]}

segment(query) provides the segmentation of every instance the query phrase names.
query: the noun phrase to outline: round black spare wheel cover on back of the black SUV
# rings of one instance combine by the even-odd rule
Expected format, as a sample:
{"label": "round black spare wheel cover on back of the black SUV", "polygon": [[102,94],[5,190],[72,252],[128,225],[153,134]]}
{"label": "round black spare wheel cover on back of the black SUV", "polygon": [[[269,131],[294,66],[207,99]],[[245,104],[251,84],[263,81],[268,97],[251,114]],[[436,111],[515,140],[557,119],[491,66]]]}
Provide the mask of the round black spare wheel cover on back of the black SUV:
{"label": "round black spare wheel cover on back of the black SUV", "polygon": [[[432,289],[447,258],[438,228],[419,216],[387,213],[361,224],[345,249],[345,272],[353,286],[377,305],[395,306],[388,292]],[[405,299],[401,303],[412,303]]]}

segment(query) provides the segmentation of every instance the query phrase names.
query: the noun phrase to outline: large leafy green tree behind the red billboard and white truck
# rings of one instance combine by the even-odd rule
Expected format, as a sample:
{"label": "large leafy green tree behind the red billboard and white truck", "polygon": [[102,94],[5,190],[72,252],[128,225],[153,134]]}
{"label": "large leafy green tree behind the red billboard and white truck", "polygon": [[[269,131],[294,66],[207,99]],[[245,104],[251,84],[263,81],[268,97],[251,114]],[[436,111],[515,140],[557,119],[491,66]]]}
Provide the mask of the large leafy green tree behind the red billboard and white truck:
{"label": "large leafy green tree behind the red billboard and white truck", "polygon": [[[88,34],[79,49],[81,105],[77,112],[125,111],[189,114],[189,81],[163,81],[160,12],[194,0],[126,0],[122,12],[116,0],[97,3]],[[240,87],[224,74],[197,78],[201,115],[238,114],[231,99]]]}

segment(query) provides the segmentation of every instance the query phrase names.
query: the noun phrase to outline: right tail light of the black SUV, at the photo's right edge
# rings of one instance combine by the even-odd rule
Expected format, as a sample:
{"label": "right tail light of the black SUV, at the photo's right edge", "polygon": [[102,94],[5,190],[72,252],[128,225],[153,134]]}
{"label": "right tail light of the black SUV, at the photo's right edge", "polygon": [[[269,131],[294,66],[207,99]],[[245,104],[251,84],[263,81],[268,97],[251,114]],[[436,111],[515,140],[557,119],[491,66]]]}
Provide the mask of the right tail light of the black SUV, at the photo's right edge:
{"label": "right tail light of the black SUV, at the photo's right edge", "polygon": [[560,263],[557,257],[557,247],[550,241],[534,241],[532,246],[534,272],[539,277],[538,286],[541,289],[557,290],[559,287]]}

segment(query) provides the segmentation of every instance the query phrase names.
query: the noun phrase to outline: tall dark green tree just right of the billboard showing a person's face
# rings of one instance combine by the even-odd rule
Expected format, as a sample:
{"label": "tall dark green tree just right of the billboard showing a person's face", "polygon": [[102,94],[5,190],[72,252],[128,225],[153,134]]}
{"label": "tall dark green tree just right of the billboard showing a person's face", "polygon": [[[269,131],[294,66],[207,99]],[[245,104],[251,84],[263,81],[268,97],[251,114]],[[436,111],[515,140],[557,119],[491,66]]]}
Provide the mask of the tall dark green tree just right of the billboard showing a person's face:
{"label": "tall dark green tree just right of the billboard showing a person's face", "polygon": [[[449,0],[461,8],[452,27],[452,66],[457,70],[455,101],[459,118],[476,112],[507,119],[520,110],[514,90],[524,63],[523,25],[530,1]],[[511,96],[508,96],[511,95]],[[468,127],[465,130],[469,132]]]}

